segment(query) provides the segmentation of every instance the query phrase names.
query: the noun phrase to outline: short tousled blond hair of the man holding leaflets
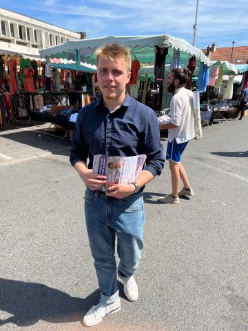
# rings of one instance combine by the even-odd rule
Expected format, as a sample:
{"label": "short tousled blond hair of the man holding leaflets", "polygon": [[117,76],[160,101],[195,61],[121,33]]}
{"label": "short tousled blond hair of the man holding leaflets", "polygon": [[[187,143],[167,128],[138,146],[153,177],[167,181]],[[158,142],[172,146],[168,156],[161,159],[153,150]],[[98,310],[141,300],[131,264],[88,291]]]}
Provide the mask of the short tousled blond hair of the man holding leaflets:
{"label": "short tousled blond hair of the man holding leaflets", "polygon": [[119,61],[123,59],[125,62],[125,66],[127,68],[127,72],[131,71],[132,66],[132,56],[129,48],[125,48],[123,45],[119,43],[106,43],[105,45],[97,48],[96,52],[96,66],[99,65],[99,60],[109,60],[111,62]]}

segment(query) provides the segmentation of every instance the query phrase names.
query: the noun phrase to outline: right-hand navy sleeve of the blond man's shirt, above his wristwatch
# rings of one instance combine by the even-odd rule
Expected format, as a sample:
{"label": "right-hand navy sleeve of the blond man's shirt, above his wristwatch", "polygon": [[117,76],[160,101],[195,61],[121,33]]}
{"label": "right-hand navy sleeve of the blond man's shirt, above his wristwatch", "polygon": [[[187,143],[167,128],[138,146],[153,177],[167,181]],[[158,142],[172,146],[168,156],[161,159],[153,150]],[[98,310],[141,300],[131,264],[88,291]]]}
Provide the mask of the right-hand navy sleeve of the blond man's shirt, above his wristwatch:
{"label": "right-hand navy sleeve of the blond man's shirt, above his wristwatch", "polygon": [[146,117],[141,144],[142,153],[147,155],[144,170],[151,172],[154,177],[161,174],[165,164],[165,156],[160,141],[158,119],[153,110],[150,110],[149,116]]}

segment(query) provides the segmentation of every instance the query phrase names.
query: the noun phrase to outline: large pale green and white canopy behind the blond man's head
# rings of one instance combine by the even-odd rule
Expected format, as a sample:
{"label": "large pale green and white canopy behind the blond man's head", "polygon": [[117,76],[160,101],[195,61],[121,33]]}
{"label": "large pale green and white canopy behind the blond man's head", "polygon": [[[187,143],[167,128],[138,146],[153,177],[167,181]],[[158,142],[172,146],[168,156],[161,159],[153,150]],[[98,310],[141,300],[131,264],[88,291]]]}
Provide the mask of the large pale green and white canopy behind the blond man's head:
{"label": "large pale green and white canopy behind the blond man's head", "polygon": [[82,39],[67,41],[59,46],[54,46],[40,50],[41,57],[61,58],[76,61],[76,68],[80,68],[80,63],[96,64],[94,51],[105,43],[121,43],[130,48],[133,59],[138,59],[141,63],[154,63],[154,46],[168,48],[166,63],[170,63],[174,49],[180,50],[180,60],[182,65],[187,63],[189,56],[196,55],[198,64],[203,62],[210,66],[209,59],[202,50],[192,46],[184,39],[171,37],[167,34],[157,36],[130,36],[130,37],[101,37],[94,39]]}

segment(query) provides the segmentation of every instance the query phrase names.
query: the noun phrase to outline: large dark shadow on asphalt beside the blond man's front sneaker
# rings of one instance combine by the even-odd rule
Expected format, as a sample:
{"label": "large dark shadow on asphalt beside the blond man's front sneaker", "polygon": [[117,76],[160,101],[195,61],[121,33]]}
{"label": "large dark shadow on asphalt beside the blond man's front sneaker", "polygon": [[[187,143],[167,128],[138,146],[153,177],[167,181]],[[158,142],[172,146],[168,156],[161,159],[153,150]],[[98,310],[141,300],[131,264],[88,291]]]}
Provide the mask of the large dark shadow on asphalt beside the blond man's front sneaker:
{"label": "large dark shadow on asphalt beside the blond man's front sneaker", "polygon": [[41,283],[0,278],[0,310],[14,315],[0,319],[0,325],[14,323],[25,327],[39,320],[50,323],[82,321],[87,310],[99,301],[99,295],[96,290],[81,299]]}

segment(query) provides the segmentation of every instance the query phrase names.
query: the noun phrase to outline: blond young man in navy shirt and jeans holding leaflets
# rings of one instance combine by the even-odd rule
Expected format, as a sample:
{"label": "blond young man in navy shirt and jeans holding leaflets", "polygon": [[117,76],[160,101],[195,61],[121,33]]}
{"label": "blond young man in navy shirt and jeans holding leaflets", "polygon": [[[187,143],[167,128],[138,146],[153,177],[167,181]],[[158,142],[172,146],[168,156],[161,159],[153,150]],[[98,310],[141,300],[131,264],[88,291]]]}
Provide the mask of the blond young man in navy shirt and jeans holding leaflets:
{"label": "blond young man in navy shirt and jeans holding leaflets", "polygon": [[[79,112],[74,128],[70,162],[86,185],[85,220],[94,258],[101,299],[85,314],[87,326],[100,323],[105,316],[121,309],[118,276],[127,299],[138,299],[134,272],[143,248],[143,188],[165,162],[154,111],[132,99],[125,87],[131,76],[130,51],[118,43],[96,50],[96,66],[101,98]],[[99,190],[106,177],[92,172],[94,155],[132,157],[146,154],[146,165],[132,184],[115,184],[104,193]],[[88,165],[87,159],[89,159]]]}

